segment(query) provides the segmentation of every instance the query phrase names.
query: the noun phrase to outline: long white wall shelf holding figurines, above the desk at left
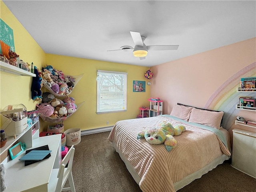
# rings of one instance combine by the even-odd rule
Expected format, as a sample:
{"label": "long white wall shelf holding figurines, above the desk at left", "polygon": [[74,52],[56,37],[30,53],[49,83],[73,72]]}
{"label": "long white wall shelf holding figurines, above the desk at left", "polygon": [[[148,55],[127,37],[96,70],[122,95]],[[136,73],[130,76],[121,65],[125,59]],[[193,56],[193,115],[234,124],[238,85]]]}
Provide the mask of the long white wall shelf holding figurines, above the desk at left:
{"label": "long white wall shelf holding figurines, above the desk at left", "polygon": [[21,68],[18,68],[16,66],[12,66],[11,64],[5,63],[3,61],[0,61],[0,70],[7,72],[7,73],[12,73],[15,75],[21,75],[21,76],[30,76],[30,77],[35,77],[36,74],[31,73],[29,71],[23,70]]}

